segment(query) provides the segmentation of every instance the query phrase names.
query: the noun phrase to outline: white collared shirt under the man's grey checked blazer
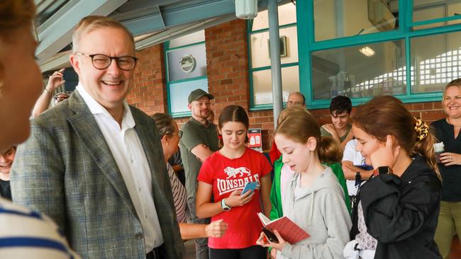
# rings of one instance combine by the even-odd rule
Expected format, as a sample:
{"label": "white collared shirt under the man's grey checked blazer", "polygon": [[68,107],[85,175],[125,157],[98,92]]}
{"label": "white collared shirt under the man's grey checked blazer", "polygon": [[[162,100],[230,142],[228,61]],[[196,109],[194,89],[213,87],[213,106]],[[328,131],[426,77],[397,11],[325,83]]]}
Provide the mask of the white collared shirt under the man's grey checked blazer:
{"label": "white collared shirt under the man's grey checked blazer", "polygon": [[[106,139],[126,188],[143,226],[146,253],[163,243],[160,222],[152,193],[152,175],[148,159],[135,130],[135,120],[126,101],[123,101],[123,120],[120,125],[101,104],[96,102],[81,83],[77,86]],[[153,129],[152,129],[153,130]]]}

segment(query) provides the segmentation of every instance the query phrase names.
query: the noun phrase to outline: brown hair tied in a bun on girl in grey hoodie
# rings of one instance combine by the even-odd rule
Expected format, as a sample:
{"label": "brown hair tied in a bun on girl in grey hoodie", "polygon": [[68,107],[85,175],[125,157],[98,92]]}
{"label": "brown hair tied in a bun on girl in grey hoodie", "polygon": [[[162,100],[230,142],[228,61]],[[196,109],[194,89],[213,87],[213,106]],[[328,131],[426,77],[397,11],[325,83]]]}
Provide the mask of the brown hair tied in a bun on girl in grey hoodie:
{"label": "brown hair tied in a bun on girl in grey hoodie", "polygon": [[320,126],[317,120],[307,110],[299,110],[294,107],[279,123],[275,134],[283,134],[294,142],[305,144],[310,137],[316,139],[316,153],[321,162],[332,163],[338,161],[343,153],[331,137],[321,137]]}

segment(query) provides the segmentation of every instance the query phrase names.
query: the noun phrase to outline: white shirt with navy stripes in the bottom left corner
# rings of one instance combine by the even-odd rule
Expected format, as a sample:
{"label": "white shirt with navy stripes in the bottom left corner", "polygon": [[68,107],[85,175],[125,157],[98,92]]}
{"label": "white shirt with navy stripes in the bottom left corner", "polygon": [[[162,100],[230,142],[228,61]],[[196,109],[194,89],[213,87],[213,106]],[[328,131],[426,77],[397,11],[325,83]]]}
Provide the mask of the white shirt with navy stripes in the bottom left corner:
{"label": "white shirt with navy stripes in the bottom left corner", "polygon": [[0,258],[80,257],[50,218],[0,198]]}

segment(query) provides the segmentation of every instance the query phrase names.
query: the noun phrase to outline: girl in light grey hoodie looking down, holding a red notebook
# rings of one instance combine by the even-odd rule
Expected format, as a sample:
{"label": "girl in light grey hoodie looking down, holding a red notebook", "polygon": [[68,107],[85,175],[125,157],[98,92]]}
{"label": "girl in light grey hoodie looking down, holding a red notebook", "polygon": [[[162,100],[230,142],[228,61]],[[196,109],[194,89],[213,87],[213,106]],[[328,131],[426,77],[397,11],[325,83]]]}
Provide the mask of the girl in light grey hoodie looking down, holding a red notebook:
{"label": "girl in light grey hoodie looking down, holding a red notebook", "polygon": [[[284,241],[274,231],[279,243],[260,235],[260,246],[277,250],[277,259],[343,258],[352,226],[345,207],[343,189],[331,168],[319,159],[326,150],[321,142],[320,127],[308,113],[291,113],[275,132],[275,143],[282,152],[282,162],[295,171],[282,194],[284,215],[304,229],[310,237],[298,243]],[[334,143],[336,144],[336,143]]]}

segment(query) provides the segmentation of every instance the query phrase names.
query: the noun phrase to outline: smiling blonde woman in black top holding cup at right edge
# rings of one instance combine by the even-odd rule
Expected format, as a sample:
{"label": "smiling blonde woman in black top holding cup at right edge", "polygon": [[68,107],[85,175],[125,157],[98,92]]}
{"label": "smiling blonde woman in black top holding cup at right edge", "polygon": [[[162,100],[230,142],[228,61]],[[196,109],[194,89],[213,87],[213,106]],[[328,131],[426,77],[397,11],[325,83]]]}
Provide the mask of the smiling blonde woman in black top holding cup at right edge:
{"label": "smiling blonde woman in black top holding cup at right edge", "polygon": [[437,163],[443,188],[435,242],[443,258],[448,258],[455,231],[461,236],[461,79],[445,86],[442,106],[447,117],[431,124],[435,137],[443,142],[445,149]]}

